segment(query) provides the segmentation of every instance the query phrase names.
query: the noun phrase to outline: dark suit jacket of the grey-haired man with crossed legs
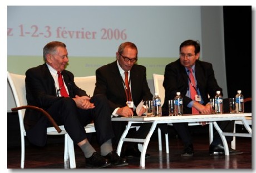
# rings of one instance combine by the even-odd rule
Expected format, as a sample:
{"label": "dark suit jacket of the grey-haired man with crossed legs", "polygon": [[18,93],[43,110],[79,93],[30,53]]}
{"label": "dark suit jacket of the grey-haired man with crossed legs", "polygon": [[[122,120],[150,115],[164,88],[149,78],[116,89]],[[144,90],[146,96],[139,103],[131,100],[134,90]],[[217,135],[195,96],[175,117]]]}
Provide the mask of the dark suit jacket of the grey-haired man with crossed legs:
{"label": "dark suit jacket of the grey-haired man with crossed legs", "polygon": [[[70,97],[87,96],[86,92],[74,83],[70,71],[62,72]],[[55,82],[46,64],[30,68],[26,72],[26,97],[28,105],[38,106],[47,111],[52,103],[63,99],[57,97]],[[24,115],[26,135],[33,144],[41,146],[46,142],[47,119],[41,112],[27,109]]]}

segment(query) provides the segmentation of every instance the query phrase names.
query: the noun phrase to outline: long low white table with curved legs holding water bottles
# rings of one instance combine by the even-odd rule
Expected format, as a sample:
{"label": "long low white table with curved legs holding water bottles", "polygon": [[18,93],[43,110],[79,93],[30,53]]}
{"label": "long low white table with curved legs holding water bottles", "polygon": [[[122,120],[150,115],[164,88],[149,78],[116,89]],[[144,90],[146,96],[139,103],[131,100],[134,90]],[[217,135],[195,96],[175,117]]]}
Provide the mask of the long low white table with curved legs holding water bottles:
{"label": "long low white table with curved legs holding water bottles", "polygon": [[[140,166],[142,168],[145,167],[145,154],[147,150],[147,146],[149,145],[150,137],[155,131],[156,125],[159,123],[175,123],[175,122],[209,122],[213,123],[215,129],[218,131],[221,140],[223,141],[223,146],[225,150],[225,155],[229,155],[228,143],[225,136],[244,136],[244,137],[252,137],[252,128],[250,128],[246,117],[252,117],[252,113],[225,113],[225,114],[199,114],[199,115],[183,115],[183,116],[161,116],[161,117],[146,117],[146,116],[134,116],[134,117],[114,117],[112,121],[128,121],[126,130],[121,136],[119,144],[117,146],[117,154],[121,154],[122,145],[124,141],[127,142],[140,142],[143,143],[142,151],[140,156]],[[231,132],[223,132],[218,123],[216,121],[232,121],[232,120],[240,120],[243,122],[244,127],[247,129],[248,134],[238,134]],[[146,136],[146,139],[132,139],[126,138],[126,135],[132,125],[132,123],[150,123],[152,122],[152,126],[150,128],[149,133]]]}

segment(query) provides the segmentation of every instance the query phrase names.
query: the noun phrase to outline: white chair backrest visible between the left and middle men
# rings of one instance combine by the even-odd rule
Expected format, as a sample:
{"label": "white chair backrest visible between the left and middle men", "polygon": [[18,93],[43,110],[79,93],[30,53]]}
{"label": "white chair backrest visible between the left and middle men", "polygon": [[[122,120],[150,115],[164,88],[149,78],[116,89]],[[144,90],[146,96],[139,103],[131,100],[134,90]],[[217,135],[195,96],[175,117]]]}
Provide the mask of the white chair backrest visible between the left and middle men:
{"label": "white chair backrest visible between the left and middle men", "polygon": [[96,76],[75,77],[74,81],[78,87],[86,91],[87,95],[93,95],[96,83]]}

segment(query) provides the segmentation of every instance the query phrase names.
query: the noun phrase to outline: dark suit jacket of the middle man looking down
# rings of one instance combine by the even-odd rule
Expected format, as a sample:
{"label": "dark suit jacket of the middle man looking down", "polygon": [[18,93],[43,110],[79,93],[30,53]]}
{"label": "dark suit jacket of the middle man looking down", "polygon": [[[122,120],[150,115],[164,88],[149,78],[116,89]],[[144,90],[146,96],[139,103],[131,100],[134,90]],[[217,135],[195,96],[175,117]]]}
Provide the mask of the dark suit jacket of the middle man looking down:
{"label": "dark suit jacket of the middle man looking down", "polygon": [[[134,105],[139,105],[141,100],[152,100],[152,93],[146,80],[146,68],[141,65],[134,65],[130,73],[131,94]],[[126,95],[122,77],[114,61],[96,70],[96,87],[94,94],[103,93],[107,96],[110,104],[110,111],[117,107],[126,106]]]}

